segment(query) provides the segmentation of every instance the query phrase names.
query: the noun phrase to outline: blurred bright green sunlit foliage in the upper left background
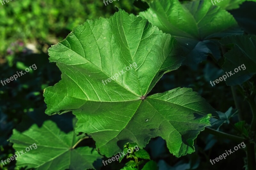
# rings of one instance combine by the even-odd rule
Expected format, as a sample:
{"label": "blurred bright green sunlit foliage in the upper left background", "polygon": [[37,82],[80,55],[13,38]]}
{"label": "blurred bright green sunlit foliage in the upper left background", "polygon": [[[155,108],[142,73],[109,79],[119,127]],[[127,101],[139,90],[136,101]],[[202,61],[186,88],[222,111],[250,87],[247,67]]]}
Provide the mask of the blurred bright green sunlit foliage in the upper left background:
{"label": "blurred bright green sunlit foliage in the upper left background", "polygon": [[137,10],[133,1],[116,1],[105,6],[102,1],[93,0],[22,0],[0,5],[0,56],[11,42],[55,44],[73,27],[86,19],[110,17],[116,11],[115,5],[129,12]]}

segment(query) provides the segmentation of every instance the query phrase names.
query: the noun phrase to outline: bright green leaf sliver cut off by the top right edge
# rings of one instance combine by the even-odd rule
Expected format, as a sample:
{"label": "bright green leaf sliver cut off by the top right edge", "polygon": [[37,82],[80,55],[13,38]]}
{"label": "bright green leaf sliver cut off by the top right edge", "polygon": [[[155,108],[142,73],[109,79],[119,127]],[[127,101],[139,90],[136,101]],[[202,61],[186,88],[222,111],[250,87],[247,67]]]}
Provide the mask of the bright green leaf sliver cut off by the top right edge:
{"label": "bright green leaf sliver cut off by the top right edge", "polygon": [[[215,3],[213,4],[220,6],[222,9],[225,9],[225,10],[233,10],[233,9],[239,8],[239,5],[245,1],[248,1],[248,0],[225,0],[225,1],[221,0],[219,3],[216,2],[216,4]],[[256,2],[256,0],[249,0],[249,1]]]}

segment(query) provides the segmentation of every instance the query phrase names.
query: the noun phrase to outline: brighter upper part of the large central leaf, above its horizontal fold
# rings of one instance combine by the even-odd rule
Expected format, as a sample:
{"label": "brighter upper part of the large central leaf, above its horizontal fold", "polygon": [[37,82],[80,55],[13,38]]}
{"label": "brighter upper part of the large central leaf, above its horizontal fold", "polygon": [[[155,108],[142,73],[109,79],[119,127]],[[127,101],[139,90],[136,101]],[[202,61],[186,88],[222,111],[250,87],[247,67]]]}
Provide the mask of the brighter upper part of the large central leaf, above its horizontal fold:
{"label": "brighter upper part of the large central leaf, above its horizontal fold", "polygon": [[[46,113],[77,109],[86,101],[139,100],[165,72],[180,67],[179,50],[175,38],[124,11],[87,20],[48,50],[63,74],[57,85],[45,89]],[[108,78],[111,82],[104,83]]]}

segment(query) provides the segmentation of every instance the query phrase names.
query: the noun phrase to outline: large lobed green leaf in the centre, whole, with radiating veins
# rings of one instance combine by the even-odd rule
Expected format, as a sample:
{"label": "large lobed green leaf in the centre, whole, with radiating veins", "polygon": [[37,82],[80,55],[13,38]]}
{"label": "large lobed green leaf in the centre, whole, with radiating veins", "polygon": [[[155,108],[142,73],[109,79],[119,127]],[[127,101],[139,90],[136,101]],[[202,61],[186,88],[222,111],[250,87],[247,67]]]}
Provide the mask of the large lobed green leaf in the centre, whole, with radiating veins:
{"label": "large lobed green leaf in the centre, whole, with radiating veins", "polygon": [[[156,136],[177,157],[191,153],[214,109],[189,88],[148,96],[165,72],[180,67],[179,50],[169,34],[124,11],[87,20],[48,50],[62,80],[45,89],[46,113],[72,110],[76,132],[91,135],[107,157],[126,143],[143,148]],[[136,66],[113,78],[131,63]]]}

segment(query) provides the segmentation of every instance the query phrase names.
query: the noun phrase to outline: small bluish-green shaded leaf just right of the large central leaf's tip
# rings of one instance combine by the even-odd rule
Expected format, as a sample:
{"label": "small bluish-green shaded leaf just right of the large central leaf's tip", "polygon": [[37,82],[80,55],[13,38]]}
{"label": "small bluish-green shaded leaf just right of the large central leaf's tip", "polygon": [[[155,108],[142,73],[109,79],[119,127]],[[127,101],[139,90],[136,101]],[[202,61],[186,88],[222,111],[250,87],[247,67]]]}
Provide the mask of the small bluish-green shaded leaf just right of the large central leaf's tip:
{"label": "small bluish-green shaded leaf just right of the large central leaf's tip", "polygon": [[211,118],[211,128],[212,129],[220,129],[220,126],[224,123],[228,123],[229,124],[229,119],[231,117],[233,117],[234,115],[236,115],[236,109],[233,109],[232,107],[229,107],[229,109],[225,112],[217,112],[220,119],[215,119],[215,118]]}

